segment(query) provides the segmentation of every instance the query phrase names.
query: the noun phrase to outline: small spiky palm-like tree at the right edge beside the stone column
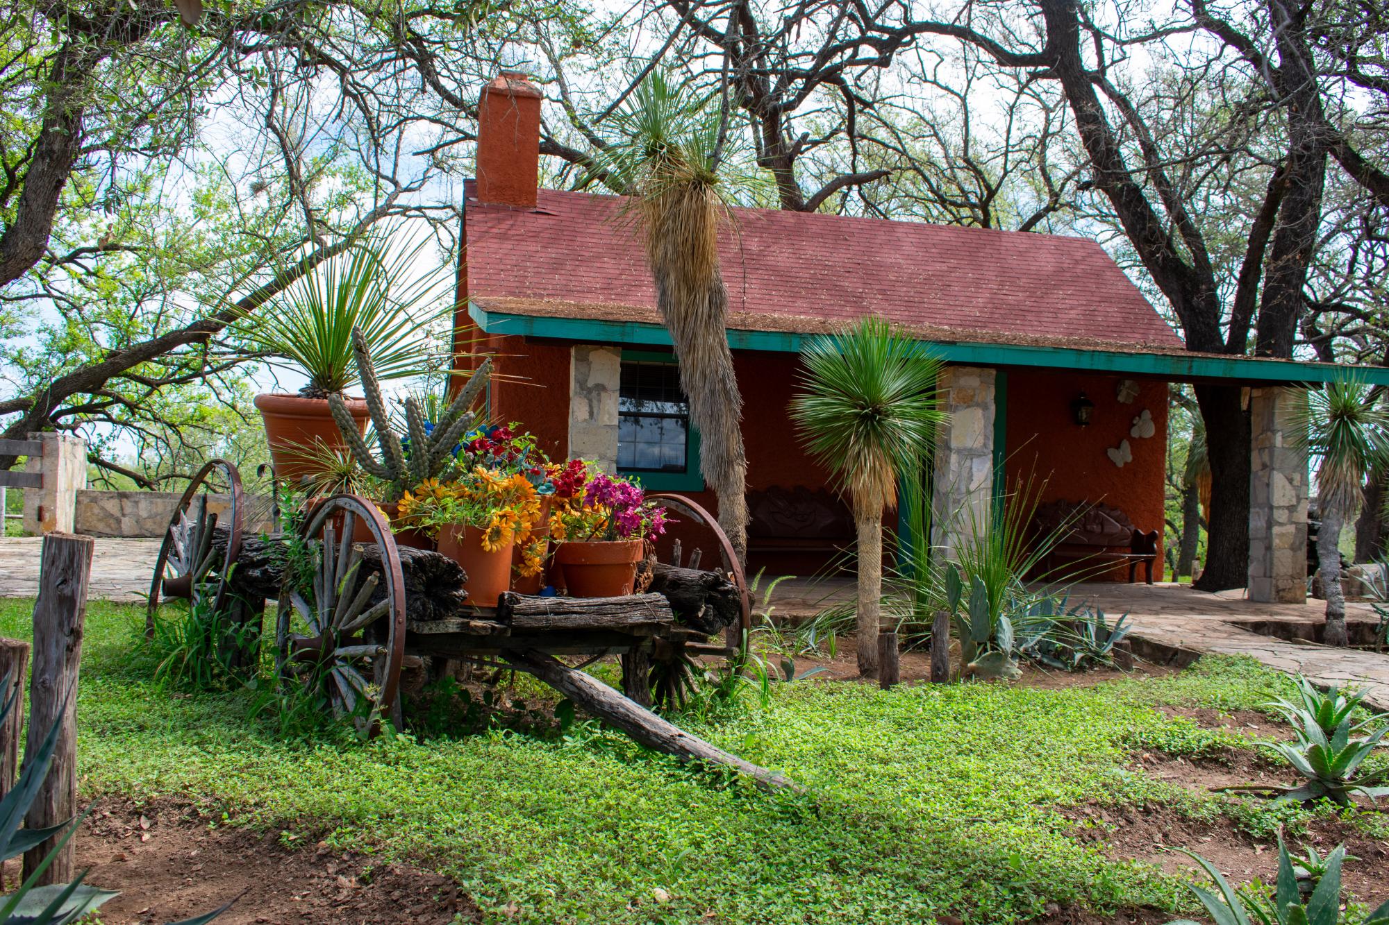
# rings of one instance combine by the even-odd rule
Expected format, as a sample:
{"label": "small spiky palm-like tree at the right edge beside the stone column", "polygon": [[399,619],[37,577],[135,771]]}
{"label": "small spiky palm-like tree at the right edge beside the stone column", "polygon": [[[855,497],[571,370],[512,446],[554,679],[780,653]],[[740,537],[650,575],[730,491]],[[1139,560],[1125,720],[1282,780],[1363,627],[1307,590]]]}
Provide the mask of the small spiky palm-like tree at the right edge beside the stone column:
{"label": "small spiky palm-like tree at the right edge beside the stone column", "polygon": [[1340,590],[1340,528],[1360,500],[1365,474],[1389,460],[1389,412],[1378,393],[1349,376],[1307,396],[1307,444],[1317,460],[1317,561],[1326,594],[1324,642],[1345,646],[1346,599]]}

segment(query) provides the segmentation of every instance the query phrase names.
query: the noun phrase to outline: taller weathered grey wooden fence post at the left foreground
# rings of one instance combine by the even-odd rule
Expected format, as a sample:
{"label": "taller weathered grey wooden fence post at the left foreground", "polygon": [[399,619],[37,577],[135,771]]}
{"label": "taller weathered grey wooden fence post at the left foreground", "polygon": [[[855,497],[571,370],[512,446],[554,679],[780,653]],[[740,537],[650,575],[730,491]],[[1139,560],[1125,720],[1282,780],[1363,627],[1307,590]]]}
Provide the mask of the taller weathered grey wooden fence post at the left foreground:
{"label": "taller weathered grey wooden fence post at the left foreground", "polygon": [[[63,725],[49,776],[25,817],[25,825],[31,829],[58,825],[76,815],[78,667],[82,660],[88,581],[92,578],[92,546],[90,536],[49,533],[43,538],[39,600],[33,606],[28,754],[39,750],[53,724]],[[38,869],[56,843],[57,838],[53,838],[25,851],[25,878]],[[39,885],[71,881],[72,853],[74,844],[68,842],[39,878]]]}

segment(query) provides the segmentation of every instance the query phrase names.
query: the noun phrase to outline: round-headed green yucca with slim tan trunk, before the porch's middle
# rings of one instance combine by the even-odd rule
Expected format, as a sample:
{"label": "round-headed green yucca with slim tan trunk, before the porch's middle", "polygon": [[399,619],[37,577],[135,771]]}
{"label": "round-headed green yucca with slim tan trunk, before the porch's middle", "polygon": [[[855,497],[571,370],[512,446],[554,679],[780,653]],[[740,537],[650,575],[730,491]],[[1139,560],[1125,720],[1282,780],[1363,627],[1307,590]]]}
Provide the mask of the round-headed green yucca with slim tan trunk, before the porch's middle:
{"label": "round-headed green yucca with slim tan trunk, before the porch's middle", "polygon": [[858,671],[878,671],[882,618],[882,512],[897,481],[920,478],[946,414],[936,403],[940,361],[882,318],[867,317],[801,351],[804,392],[790,417],[818,462],[853,500],[858,538]]}

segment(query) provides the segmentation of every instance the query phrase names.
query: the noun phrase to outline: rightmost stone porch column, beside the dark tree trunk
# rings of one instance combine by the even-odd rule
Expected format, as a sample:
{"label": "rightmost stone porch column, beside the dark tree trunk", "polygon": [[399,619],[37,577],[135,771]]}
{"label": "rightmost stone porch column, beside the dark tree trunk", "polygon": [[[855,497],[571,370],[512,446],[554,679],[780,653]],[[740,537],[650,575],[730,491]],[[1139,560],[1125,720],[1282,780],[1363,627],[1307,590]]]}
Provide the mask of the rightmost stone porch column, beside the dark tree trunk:
{"label": "rightmost stone porch column, beside the dark tree trunk", "polygon": [[1307,393],[1250,389],[1249,599],[1307,600],[1307,443],[1297,433]]}

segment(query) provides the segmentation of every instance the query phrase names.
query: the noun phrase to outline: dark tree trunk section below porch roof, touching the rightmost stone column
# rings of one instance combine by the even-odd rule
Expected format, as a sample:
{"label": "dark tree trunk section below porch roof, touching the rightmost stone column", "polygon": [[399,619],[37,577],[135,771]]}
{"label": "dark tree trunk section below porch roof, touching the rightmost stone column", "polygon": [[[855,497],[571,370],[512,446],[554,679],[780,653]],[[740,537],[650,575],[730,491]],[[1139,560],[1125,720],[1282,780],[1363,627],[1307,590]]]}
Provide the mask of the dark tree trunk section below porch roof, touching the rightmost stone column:
{"label": "dark tree trunk section below porch roof, touching the rightmost stone column", "polygon": [[1196,588],[1218,592],[1249,582],[1249,410],[1239,386],[1197,385],[1211,464],[1206,567]]}

